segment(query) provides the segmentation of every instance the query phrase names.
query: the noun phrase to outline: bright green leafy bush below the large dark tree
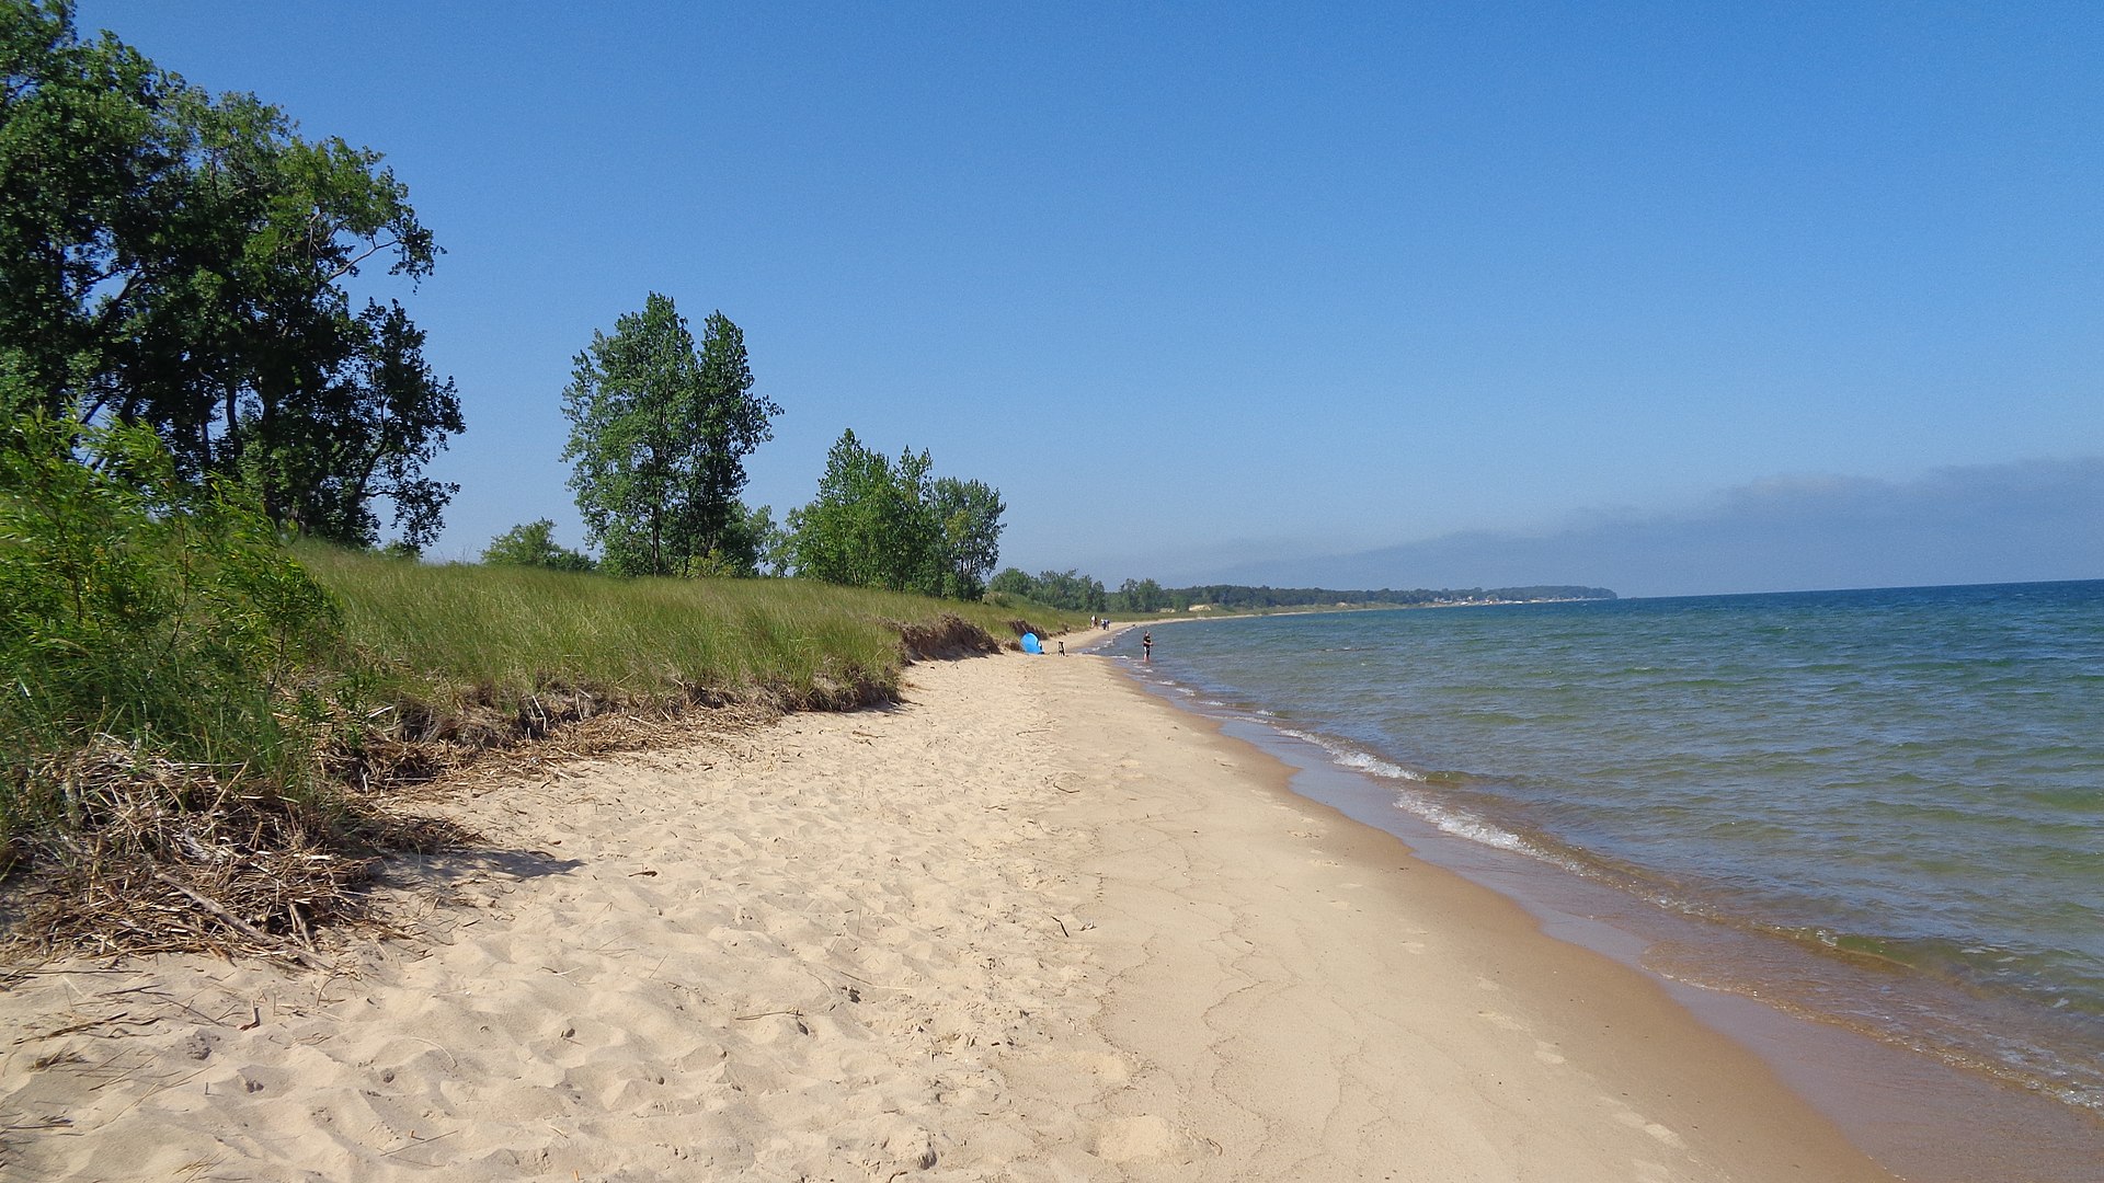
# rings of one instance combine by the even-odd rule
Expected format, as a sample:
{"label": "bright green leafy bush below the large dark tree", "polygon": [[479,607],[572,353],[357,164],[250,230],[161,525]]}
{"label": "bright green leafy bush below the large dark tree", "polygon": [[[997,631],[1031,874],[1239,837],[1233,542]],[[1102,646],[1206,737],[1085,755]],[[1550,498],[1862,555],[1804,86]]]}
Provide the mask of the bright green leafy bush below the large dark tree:
{"label": "bright green leafy bush below the large dark tree", "polygon": [[244,490],[183,480],[145,427],[21,415],[0,560],[8,829],[65,808],[34,770],[97,735],[307,785],[339,608]]}

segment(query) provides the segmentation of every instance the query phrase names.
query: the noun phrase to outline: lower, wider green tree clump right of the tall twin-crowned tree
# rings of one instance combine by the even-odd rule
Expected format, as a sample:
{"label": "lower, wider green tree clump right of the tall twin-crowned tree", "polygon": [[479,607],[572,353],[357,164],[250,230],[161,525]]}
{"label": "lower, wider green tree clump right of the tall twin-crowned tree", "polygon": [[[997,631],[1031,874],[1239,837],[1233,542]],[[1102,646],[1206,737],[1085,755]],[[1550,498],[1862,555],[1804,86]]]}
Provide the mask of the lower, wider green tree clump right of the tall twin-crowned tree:
{"label": "lower, wider green tree clump right of the tall twin-crowned tree", "polygon": [[818,497],[789,514],[789,566],[808,579],[976,600],[999,556],[999,493],[930,478],[928,450],[884,453],[842,432]]}

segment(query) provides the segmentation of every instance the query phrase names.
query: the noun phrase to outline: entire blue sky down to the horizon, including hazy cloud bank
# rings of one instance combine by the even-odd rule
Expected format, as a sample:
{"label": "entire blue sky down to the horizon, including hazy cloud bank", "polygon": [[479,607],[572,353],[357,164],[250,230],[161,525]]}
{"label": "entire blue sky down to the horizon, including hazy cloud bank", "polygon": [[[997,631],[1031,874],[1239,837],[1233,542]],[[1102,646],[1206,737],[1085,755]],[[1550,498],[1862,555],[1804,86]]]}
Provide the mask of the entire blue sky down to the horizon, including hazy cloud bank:
{"label": "entire blue sky down to the horizon, including hazy cloud bank", "polygon": [[[808,501],[854,427],[995,484],[1027,570],[2104,577],[2104,516],[2037,528],[2104,505],[2104,6],[80,23],[408,183],[448,255],[404,301],[469,425],[438,556],[543,516],[583,541],[560,392],[661,290],[739,322],[785,408],[749,501]],[[1729,533],[1778,488],[1786,528]]]}

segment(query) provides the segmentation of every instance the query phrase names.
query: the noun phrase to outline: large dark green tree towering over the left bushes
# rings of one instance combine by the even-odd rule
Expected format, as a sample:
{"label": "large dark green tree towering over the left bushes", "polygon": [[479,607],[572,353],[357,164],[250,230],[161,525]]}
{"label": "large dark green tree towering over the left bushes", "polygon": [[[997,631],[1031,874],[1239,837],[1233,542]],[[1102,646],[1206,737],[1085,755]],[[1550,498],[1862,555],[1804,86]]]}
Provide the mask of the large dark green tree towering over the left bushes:
{"label": "large dark green tree towering over the left bushes", "polygon": [[240,474],[303,533],[370,545],[385,499],[433,539],[459,400],[400,305],[341,286],[438,257],[381,156],[82,42],[65,0],[0,0],[0,69],[6,410],[149,425],[179,476]]}

